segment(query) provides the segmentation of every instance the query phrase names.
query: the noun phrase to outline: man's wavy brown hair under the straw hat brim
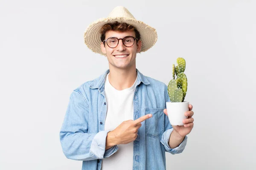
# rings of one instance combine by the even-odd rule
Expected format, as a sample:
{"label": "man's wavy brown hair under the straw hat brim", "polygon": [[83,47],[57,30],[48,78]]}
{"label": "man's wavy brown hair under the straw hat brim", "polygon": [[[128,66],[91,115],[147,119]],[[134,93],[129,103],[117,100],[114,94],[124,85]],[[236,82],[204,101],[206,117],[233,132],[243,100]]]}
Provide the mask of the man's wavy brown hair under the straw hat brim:
{"label": "man's wavy brown hair under the straw hat brim", "polygon": [[[102,28],[100,29],[100,34],[101,34],[101,41],[105,40],[106,37],[106,32],[107,31],[134,31],[135,32],[135,37],[140,40],[140,33],[139,31],[131,25],[128,25],[127,23],[119,23],[118,21],[114,23],[107,23]],[[103,42],[105,46],[105,41]]]}

